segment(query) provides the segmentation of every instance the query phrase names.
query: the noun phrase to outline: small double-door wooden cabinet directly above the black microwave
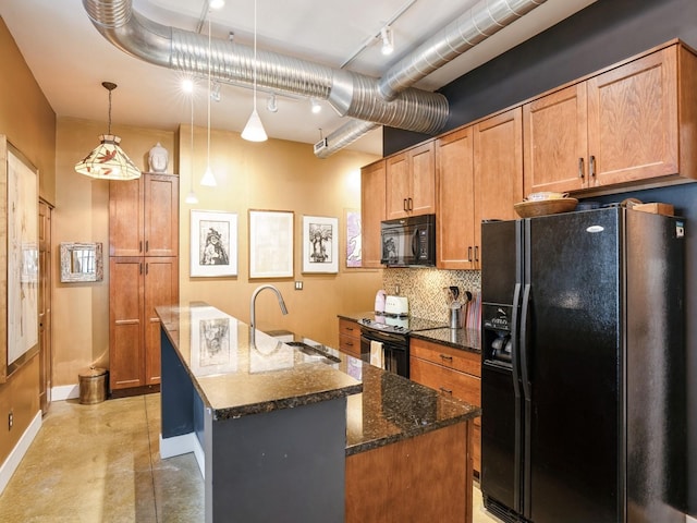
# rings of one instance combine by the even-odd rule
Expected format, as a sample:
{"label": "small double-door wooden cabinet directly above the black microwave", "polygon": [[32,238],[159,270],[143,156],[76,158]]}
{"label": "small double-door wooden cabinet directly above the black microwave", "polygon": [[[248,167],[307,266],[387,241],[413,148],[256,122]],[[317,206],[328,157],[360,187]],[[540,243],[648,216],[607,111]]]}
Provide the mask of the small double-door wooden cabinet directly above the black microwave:
{"label": "small double-door wooden cabinet directly above the black microwave", "polygon": [[386,180],[387,219],[436,212],[433,141],[388,158]]}

